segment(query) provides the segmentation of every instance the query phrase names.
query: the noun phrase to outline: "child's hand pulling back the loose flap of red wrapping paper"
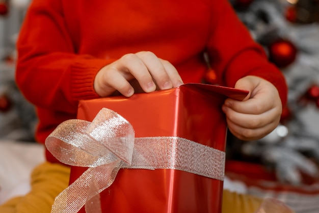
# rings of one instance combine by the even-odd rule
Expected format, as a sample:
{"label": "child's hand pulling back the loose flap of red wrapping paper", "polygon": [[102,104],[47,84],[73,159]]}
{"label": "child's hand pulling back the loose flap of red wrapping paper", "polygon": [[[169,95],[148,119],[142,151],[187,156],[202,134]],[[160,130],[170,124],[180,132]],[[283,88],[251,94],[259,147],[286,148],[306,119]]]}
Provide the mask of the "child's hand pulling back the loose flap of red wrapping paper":
{"label": "child's hand pulling back the loose flap of red wrapping paper", "polygon": [[281,100],[273,84],[257,76],[246,76],[235,88],[249,90],[244,101],[226,99],[223,111],[232,134],[241,140],[258,140],[268,135],[279,123]]}

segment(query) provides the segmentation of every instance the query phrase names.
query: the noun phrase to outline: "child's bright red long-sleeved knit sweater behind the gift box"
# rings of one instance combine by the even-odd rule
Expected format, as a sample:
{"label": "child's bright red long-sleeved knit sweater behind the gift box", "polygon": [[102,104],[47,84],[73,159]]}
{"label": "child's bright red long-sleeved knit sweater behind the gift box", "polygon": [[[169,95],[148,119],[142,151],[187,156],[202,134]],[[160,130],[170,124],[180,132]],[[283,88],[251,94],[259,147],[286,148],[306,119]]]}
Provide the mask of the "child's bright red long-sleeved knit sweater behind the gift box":
{"label": "child's bright red long-sleeved knit sweater behind the gift box", "polygon": [[[101,67],[142,50],[170,61],[184,83],[200,82],[207,52],[219,84],[261,76],[286,101],[283,75],[226,0],[34,0],[17,48],[16,81],[36,105],[42,143],[76,117],[78,100],[98,97],[93,80]],[[47,159],[56,161],[48,152]]]}

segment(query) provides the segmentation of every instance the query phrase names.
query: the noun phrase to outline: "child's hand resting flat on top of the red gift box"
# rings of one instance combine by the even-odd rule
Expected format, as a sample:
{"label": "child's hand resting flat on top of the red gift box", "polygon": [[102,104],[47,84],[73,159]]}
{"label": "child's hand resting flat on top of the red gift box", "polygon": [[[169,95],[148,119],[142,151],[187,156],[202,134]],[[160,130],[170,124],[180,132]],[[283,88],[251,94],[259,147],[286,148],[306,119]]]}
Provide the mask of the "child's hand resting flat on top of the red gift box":
{"label": "child's hand resting flat on top of the red gift box", "polygon": [[94,89],[101,97],[115,91],[129,97],[135,92],[129,83],[132,79],[137,79],[144,92],[153,92],[156,87],[164,90],[183,84],[171,63],[157,58],[152,52],[141,51],[124,55],[100,69],[94,79]]}

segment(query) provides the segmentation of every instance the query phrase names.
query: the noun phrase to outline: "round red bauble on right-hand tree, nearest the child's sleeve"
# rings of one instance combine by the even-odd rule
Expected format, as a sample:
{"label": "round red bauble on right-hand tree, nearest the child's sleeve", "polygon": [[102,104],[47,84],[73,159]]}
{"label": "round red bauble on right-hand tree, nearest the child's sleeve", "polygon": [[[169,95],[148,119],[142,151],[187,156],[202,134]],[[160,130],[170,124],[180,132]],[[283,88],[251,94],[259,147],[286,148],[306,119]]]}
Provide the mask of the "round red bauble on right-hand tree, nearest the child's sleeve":
{"label": "round red bauble on right-hand tree, nearest the child's sleeve", "polygon": [[297,48],[287,39],[278,39],[268,46],[269,60],[277,67],[284,68],[296,60]]}

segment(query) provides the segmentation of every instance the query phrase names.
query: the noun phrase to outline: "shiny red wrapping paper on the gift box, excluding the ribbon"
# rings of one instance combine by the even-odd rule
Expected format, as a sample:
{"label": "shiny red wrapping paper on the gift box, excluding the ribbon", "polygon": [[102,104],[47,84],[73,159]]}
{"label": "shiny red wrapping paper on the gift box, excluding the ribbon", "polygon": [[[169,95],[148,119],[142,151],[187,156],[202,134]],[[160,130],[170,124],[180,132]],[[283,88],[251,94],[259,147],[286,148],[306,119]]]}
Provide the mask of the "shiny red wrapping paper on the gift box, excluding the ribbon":
{"label": "shiny red wrapping paper on the gift box, excluding the ribbon", "polygon": [[[80,101],[78,119],[92,121],[101,108],[123,116],[135,137],[177,136],[225,151],[226,121],[221,111],[228,97],[247,91],[212,85],[178,88]],[[70,183],[87,168],[72,167]],[[221,212],[223,181],[174,169],[120,169],[100,193],[102,212]],[[85,212],[83,207],[79,212]]]}

